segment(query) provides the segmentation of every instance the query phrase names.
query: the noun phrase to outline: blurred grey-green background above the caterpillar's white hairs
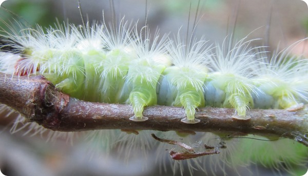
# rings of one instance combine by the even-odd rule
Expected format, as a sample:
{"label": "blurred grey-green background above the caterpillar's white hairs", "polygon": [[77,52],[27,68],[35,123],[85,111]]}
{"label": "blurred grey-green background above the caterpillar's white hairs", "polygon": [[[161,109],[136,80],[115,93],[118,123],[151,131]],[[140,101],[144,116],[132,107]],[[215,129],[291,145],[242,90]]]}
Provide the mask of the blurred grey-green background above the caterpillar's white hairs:
{"label": "blurred grey-green background above the caterpillar's white hairs", "polygon": [[[185,36],[191,4],[189,33],[191,32],[198,1],[152,0],[147,1],[147,5],[145,2],[114,0],[116,19],[119,21],[125,16],[127,20],[138,20],[138,23],[143,25],[147,13],[147,24],[152,32],[158,28],[161,33],[170,33],[172,36],[182,28],[180,32]],[[9,0],[5,1],[3,6],[32,26],[53,26],[56,18],[81,24],[77,0]],[[102,21],[103,11],[107,23],[111,21],[110,1],[81,0],[81,6],[84,18],[88,21]],[[3,20],[12,19],[12,16],[21,20],[4,9],[0,10]],[[213,42],[221,42],[233,29],[235,38],[243,38],[255,30],[249,38],[262,38],[257,45],[267,44],[268,40],[272,50],[277,48],[278,43],[280,48],[290,46],[291,43],[304,38],[308,31],[307,7],[300,0],[201,0],[197,20],[196,37],[205,36]]]}

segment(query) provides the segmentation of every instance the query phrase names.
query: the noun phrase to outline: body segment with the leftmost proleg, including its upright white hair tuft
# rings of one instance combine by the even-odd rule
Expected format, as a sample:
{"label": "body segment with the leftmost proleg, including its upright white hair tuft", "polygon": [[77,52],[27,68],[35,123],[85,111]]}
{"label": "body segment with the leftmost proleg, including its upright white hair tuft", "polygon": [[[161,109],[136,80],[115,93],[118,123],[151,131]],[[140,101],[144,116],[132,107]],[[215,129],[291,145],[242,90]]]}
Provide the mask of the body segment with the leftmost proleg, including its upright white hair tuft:
{"label": "body segment with the leftmost proleg, including its upright white hair tuft", "polygon": [[[145,37],[142,36],[145,31]],[[136,41],[133,42],[137,57],[129,65],[129,71],[126,76],[125,87],[126,94],[122,94],[124,103],[132,105],[134,116],[132,121],[145,121],[148,118],[142,115],[145,106],[157,104],[157,84],[163,71],[166,69],[169,61],[166,57],[165,46],[168,45],[166,35],[161,39],[156,32],[151,39],[149,30],[144,27],[141,33],[135,32]],[[128,96],[129,95],[129,96]]]}

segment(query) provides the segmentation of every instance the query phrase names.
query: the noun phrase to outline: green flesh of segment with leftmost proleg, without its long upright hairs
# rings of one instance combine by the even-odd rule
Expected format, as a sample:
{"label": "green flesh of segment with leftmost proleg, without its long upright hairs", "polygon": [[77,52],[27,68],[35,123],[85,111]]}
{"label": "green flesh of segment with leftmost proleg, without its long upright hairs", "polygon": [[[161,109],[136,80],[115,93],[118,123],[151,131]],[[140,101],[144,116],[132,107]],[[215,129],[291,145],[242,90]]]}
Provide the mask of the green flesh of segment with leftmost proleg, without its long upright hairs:
{"label": "green flesh of segment with leftmost proleg, without its long upright hairs", "polygon": [[137,59],[130,65],[126,77],[125,89],[121,95],[123,103],[132,105],[132,121],[145,121],[145,106],[157,104],[156,87],[165,66],[147,59]]}

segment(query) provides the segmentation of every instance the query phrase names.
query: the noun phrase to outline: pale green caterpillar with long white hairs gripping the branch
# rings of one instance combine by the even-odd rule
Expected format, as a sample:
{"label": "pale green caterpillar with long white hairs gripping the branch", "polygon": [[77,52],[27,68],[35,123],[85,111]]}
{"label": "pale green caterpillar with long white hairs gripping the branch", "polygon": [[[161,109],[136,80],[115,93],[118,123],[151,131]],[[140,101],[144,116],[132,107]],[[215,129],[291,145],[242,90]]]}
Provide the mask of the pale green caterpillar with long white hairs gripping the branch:
{"label": "pale green caterpillar with long white hairs gripping the branch", "polygon": [[[131,25],[124,18],[117,27],[105,23],[63,24],[48,29],[11,28],[9,32],[2,28],[1,32],[1,72],[16,76],[43,75],[64,93],[85,101],[130,104],[134,113],[130,120],[138,123],[146,123],[144,107],[156,104],[183,107],[186,118],[182,122],[194,124],[199,122],[195,117],[198,107],[234,108],[233,118],[247,120],[246,111],[251,108],[296,110],[308,101],[308,61],[290,53],[292,47],[306,38],[270,55],[266,47],[251,47],[258,39],[249,40],[248,36],[239,41],[226,37],[222,45],[193,37],[185,42],[180,32],[175,39],[161,37],[159,32],[151,35],[147,26],[139,30],[137,24]],[[157,147],[158,154],[170,148],[170,143],[151,141],[147,133],[165,139],[161,141],[181,138],[183,143],[193,144],[194,151],[203,151],[203,143],[215,149],[221,139],[214,138],[225,136],[197,133],[192,137],[174,131],[137,131],[139,135],[127,135],[119,130],[94,133],[110,140],[110,146],[123,146],[120,153],[128,153],[128,162],[132,157],[130,150],[136,146],[144,156],[148,156],[146,148]],[[174,170],[176,164],[182,167],[186,162],[190,174],[192,165],[210,174],[216,172],[216,167],[232,168],[256,162],[280,169],[286,165],[284,169],[292,172],[293,165],[307,162],[306,147],[287,139],[260,142],[228,138],[224,142],[227,150],[219,156],[175,161]],[[279,147],[282,145],[287,147]],[[181,150],[183,145],[176,145],[170,151],[184,158],[196,154],[177,152]],[[208,161],[214,163],[210,169],[205,167]],[[184,174],[182,168],[180,172]]]}

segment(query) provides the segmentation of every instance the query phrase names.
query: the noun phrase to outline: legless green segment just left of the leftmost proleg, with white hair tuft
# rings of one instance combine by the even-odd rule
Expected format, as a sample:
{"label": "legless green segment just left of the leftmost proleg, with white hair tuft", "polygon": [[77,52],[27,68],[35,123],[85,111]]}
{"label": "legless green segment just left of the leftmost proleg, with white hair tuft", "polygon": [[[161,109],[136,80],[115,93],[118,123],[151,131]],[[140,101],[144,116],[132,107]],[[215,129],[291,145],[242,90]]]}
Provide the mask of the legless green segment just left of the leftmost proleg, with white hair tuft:
{"label": "legless green segment just left of the leftmost proleg, with white hair tuft", "polygon": [[106,59],[101,62],[103,71],[100,73],[102,81],[100,102],[125,103],[121,94],[125,91],[125,79],[129,65],[137,59],[136,48],[133,43],[132,27],[121,19],[118,28],[104,24],[106,30],[101,32],[102,40],[107,51]]}

